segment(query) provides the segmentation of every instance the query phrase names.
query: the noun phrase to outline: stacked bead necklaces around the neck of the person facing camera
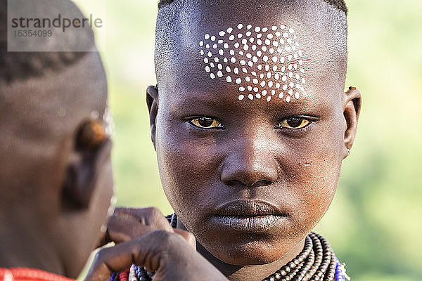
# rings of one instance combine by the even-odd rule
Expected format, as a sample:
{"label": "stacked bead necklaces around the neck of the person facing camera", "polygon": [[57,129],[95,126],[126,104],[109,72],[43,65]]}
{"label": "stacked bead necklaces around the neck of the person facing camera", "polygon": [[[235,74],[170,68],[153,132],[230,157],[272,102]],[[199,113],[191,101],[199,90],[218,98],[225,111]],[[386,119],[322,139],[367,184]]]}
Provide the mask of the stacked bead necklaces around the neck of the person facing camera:
{"label": "stacked bead necklaces around the neck of the person facing camera", "polygon": [[[177,216],[166,217],[172,228],[177,226]],[[345,281],[350,280],[345,273],[345,265],[335,257],[328,241],[319,234],[309,233],[305,247],[298,256],[282,266],[262,281]],[[122,272],[114,273],[110,281],[151,281],[153,273],[145,268],[132,265]]]}

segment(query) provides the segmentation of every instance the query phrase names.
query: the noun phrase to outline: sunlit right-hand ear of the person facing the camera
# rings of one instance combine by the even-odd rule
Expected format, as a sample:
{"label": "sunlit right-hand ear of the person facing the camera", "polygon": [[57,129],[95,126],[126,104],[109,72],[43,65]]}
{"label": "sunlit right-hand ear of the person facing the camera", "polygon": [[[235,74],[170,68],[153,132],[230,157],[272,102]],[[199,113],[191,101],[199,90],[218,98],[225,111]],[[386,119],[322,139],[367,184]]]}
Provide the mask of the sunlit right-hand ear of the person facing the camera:
{"label": "sunlit right-hand ear of the person facing the camera", "polygon": [[350,87],[349,91],[343,96],[343,116],[345,123],[344,148],[345,154],[343,159],[349,155],[352,148],[354,137],[356,136],[357,122],[362,104],[361,93],[354,87]]}

